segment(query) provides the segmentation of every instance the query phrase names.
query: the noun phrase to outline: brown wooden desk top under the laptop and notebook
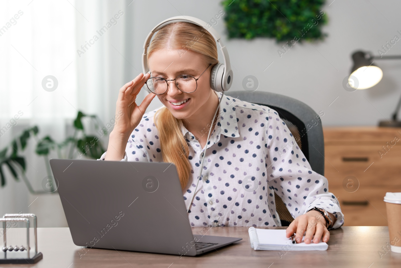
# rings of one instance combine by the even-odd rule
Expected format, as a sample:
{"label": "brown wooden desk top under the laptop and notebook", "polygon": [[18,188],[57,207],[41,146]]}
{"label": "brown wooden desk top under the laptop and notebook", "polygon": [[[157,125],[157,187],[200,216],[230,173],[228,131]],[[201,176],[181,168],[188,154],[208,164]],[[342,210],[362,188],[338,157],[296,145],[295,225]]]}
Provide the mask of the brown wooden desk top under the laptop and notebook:
{"label": "brown wooden desk top under the laptop and notebook", "polygon": [[[261,227],[286,229],[286,227]],[[200,233],[203,227],[193,227]],[[201,233],[200,233],[201,234]],[[43,260],[32,267],[401,267],[401,254],[385,252],[389,233],[387,226],[346,226],[330,231],[327,251],[255,251],[249,243],[248,227],[213,227],[207,235],[242,237],[243,240],[203,254],[185,257],[142,252],[87,249],[73,243],[69,228],[38,228],[38,250]],[[378,251],[383,251],[380,258]],[[80,258],[81,257],[81,258]],[[271,266],[270,266],[271,265]],[[3,265],[1,267],[30,267]]]}

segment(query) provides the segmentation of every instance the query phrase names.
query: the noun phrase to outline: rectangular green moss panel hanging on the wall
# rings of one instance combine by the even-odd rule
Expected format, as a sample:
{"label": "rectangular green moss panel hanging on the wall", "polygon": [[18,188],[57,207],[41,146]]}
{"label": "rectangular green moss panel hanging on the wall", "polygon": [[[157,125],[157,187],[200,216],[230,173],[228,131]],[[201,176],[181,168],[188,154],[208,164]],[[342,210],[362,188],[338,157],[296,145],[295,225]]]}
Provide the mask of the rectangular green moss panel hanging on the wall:
{"label": "rectangular green moss panel hanging on the wall", "polygon": [[275,38],[276,43],[324,40],[325,0],[223,0],[228,39]]}

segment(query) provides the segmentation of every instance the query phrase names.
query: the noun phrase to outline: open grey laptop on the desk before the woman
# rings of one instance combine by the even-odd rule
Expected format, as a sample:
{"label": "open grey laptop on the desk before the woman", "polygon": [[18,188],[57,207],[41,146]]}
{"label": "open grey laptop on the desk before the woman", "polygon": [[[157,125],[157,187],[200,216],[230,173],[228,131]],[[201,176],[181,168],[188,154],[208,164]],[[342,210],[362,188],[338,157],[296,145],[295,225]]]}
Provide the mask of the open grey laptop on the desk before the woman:
{"label": "open grey laptop on the desk before the woman", "polygon": [[[196,256],[242,238],[192,234],[176,166],[51,159],[75,245]],[[217,227],[224,228],[224,227]]]}

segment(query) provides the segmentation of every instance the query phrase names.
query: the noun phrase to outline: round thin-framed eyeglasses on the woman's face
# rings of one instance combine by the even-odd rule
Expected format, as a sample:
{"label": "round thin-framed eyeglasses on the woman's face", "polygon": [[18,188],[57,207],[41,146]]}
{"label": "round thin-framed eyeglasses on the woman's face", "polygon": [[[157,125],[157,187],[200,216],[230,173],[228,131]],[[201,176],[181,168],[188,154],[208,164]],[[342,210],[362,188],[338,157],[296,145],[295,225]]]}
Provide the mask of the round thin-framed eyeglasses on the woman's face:
{"label": "round thin-framed eyeglasses on the woman's face", "polygon": [[[209,63],[209,66],[207,68],[209,68],[210,65],[212,65],[212,63]],[[205,71],[207,70],[207,68],[205,69]],[[203,73],[205,71],[203,71]],[[202,76],[202,74],[198,78],[194,78],[193,76],[184,74],[181,76],[177,76],[175,79],[170,79],[170,80],[167,80],[162,77],[151,77],[148,80],[146,80],[145,84],[150,90],[150,92],[160,95],[167,92],[168,81],[174,80],[179,90],[181,90],[184,93],[192,93],[196,90],[196,88],[198,88],[197,81]]]}

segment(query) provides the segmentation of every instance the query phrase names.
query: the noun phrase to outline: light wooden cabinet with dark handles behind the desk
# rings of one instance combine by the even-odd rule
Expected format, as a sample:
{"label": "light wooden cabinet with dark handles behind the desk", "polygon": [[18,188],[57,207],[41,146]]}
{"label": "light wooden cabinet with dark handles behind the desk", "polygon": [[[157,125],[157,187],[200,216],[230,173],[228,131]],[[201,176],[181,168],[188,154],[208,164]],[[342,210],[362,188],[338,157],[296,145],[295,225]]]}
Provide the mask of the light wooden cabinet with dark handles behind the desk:
{"label": "light wooden cabinet with dark handles behind the desk", "polygon": [[401,128],[324,127],[324,176],[344,226],[387,225],[386,192],[401,192]]}

